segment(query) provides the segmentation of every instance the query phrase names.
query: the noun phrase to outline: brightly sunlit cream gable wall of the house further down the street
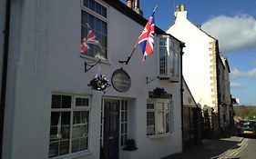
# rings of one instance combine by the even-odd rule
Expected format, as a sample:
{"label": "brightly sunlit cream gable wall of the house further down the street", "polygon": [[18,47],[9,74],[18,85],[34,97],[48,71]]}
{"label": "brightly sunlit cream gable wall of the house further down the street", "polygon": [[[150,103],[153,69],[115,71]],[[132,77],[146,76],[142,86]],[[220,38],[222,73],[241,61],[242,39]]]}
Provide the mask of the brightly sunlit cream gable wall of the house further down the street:
{"label": "brightly sunlit cream gable wall of the house further down the street", "polygon": [[186,79],[191,94],[197,103],[200,103],[202,108],[205,105],[214,106],[211,96],[210,85],[210,42],[214,39],[210,35],[205,34],[196,25],[193,25],[186,18],[187,12],[179,13],[177,15],[175,24],[172,25],[167,33],[174,35],[179,40],[185,43],[186,47],[183,49],[183,75]]}

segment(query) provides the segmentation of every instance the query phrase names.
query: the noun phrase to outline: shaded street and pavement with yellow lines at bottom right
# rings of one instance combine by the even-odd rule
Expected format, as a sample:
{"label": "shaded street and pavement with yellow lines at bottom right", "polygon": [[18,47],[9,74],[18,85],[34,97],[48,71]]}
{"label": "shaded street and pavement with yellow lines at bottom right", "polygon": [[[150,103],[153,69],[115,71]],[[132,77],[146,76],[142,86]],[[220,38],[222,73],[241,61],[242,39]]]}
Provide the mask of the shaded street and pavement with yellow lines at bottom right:
{"label": "shaded street and pavement with yellow lines at bottom right", "polygon": [[183,153],[164,159],[254,159],[256,139],[230,136],[216,140],[205,139]]}

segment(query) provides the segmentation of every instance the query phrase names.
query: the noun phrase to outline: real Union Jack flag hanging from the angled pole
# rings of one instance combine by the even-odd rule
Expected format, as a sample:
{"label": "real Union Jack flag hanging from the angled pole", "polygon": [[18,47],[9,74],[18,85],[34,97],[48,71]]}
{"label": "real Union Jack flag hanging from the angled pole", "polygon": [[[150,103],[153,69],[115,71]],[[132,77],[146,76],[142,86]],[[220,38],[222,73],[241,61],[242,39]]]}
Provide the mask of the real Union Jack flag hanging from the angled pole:
{"label": "real Union Jack flag hanging from the angled pole", "polygon": [[147,25],[144,27],[141,35],[138,36],[138,45],[143,54],[143,62],[146,60],[147,55],[153,54],[154,50],[154,35],[155,35],[155,20],[154,14],[157,9],[154,9],[153,14],[149,17]]}

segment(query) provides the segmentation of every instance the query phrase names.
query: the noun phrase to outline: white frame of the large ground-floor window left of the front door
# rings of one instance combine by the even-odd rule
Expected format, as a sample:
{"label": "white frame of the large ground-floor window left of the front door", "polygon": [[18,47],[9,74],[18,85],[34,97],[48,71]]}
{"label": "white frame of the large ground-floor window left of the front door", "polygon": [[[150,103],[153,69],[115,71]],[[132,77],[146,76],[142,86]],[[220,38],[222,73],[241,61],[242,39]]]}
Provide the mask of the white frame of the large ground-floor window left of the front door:
{"label": "white frame of the large ground-floor window left of the front door", "polygon": [[[69,149],[68,149],[68,154],[61,154],[61,155],[57,155],[57,156],[53,156],[53,157],[50,157],[49,154],[48,154],[48,158],[59,159],[59,158],[65,158],[65,157],[79,157],[79,156],[89,154],[91,152],[91,150],[90,150],[91,97],[89,95],[59,94],[59,93],[53,93],[52,96],[53,95],[68,95],[68,96],[71,96],[71,107],[70,108],[51,108],[51,114],[54,113],[54,112],[69,112],[70,113]],[[88,99],[88,105],[87,106],[76,106],[76,99],[77,98],[87,98]],[[72,134],[74,133],[73,132],[73,125],[74,125],[73,124],[73,117],[74,117],[74,112],[76,112],[76,111],[77,112],[82,112],[82,111],[87,111],[88,112],[87,149],[72,153]],[[50,141],[49,141],[49,144],[50,144]],[[49,151],[49,149],[48,149],[48,151]]]}

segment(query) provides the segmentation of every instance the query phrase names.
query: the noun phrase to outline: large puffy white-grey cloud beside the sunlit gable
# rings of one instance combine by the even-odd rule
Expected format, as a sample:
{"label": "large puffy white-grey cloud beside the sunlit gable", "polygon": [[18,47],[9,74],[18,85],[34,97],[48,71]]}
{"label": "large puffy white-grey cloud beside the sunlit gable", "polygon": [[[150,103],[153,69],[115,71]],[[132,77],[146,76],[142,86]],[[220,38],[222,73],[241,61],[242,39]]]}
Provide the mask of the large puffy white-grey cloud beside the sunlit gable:
{"label": "large puffy white-grey cloud beside the sunlit gable", "polygon": [[256,20],[251,15],[220,15],[201,28],[219,40],[222,52],[256,47]]}

